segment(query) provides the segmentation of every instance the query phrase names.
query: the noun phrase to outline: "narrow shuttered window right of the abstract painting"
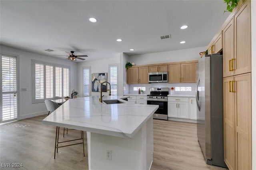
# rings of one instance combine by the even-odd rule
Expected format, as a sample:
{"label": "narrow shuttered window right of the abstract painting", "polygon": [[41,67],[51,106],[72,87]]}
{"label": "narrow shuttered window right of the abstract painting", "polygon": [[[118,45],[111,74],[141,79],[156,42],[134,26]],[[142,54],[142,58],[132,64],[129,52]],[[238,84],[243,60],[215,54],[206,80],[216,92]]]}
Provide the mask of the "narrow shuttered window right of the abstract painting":
{"label": "narrow shuttered window right of the abstract painting", "polygon": [[109,77],[110,77],[110,85],[111,85],[111,95],[117,96],[117,79],[118,79],[118,65],[109,65]]}

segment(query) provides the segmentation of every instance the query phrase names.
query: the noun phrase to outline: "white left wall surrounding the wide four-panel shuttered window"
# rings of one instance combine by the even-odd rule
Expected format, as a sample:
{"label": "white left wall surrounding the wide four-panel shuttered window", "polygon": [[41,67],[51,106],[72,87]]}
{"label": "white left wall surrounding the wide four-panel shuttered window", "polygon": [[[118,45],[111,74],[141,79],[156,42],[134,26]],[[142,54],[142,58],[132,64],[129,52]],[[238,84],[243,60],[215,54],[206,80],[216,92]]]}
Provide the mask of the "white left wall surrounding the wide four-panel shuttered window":
{"label": "white left wall surrounding the wide four-panel shuttered window", "polygon": [[[45,61],[49,63],[57,63],[61,65],[68,65],[71,68],[71,89],[77,89],[76,84],[76,63],[64,59],[57,59],[55,57],[48,57],[5,45],[0,46],[1,53],[8,53],[10,55],[19,55],[19,110],[18,119],[26,119],[38,115],[43,115],[47,112],[45,103],[32,104],[32,59]],[[21,91],[21,88],[26,88],[26,91]],[[71,93],[71,92],[70,92]]]}

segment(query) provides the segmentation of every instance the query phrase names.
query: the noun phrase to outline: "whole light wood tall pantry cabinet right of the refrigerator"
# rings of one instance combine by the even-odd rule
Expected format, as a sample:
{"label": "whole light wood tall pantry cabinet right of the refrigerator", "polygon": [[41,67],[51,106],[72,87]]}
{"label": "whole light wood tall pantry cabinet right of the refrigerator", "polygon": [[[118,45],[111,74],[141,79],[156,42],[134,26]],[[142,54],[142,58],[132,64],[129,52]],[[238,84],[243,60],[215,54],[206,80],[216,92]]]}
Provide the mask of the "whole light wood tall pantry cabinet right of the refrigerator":
{"label": "whole light wood tall pantry cabinet right of the refrigerator", "polygon": [[251,170],[251,8],[240,2],[223,27],[224,161],[230,170]]}

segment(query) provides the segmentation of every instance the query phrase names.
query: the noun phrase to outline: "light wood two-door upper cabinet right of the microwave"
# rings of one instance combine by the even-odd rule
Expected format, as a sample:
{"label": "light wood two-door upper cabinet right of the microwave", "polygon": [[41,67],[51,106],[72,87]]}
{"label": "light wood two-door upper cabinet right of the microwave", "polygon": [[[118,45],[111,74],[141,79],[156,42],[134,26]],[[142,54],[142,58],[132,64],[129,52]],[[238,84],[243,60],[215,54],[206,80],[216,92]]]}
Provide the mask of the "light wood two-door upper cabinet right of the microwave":
{"label": "light wood two-door upper cabinet right of the microwave", "polygon": [[196,63],[168,65],[168,83],[196,83]]}

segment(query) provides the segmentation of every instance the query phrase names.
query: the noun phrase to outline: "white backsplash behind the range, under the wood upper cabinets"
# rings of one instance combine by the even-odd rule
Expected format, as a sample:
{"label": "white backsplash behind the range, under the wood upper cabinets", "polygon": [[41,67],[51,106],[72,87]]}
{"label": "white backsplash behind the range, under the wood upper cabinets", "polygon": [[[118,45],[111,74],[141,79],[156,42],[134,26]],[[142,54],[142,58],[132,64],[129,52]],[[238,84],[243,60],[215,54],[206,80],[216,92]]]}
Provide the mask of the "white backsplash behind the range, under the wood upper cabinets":
{"label": "white backsplash behind the range, under the wood upper cabinets", "polygon": [[129,84],[126,86],[126,90],[124,91],[124,94],[127,93],[138,93],[138,91],[134,91],[134,87],[145,87],[146,91],[144,91],[145,94],[150,93],[150,87],[168,87],[169,88],[169,94],[171,87],[180,87],[176,89],[187,89],[191,91],[174,91],[174,94],[180,94],[180,95],[194,95],[196,94],[196,83],[150,83],[150,84]]}

